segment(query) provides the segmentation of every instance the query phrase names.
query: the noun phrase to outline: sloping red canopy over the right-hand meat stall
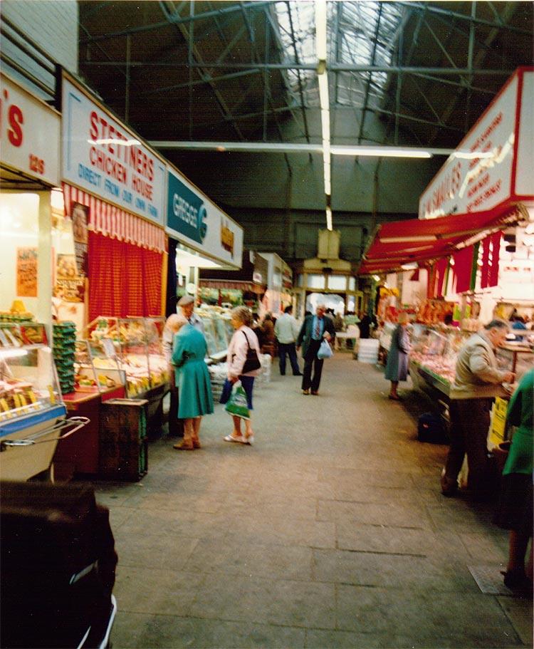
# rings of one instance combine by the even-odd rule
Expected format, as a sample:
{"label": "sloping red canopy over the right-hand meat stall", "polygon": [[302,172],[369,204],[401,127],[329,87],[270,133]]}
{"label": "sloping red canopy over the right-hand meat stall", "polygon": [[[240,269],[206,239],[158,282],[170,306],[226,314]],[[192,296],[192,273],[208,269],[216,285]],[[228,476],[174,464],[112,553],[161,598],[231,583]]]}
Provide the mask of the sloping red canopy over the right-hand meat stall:
{"label": "sloping red canopy over the right-hand meat stall", "polygon": [[384,223],[367,249],[358,274],[394,271],[403,264],[448,256],[460,244],[478,241],[517,219],[515,206],[504,206],[500,211]]}

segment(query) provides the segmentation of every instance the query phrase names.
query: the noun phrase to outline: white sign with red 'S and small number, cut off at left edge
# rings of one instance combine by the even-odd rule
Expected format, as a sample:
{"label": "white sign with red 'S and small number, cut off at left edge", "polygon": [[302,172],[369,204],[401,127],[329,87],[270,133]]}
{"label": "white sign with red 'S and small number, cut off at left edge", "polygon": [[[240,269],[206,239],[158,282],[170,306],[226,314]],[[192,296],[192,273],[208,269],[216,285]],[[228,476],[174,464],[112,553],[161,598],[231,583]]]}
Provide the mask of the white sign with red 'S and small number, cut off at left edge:
{"label": "white sign with red 'S and small number, cut off at left edge", "polygon": [[60,116],[1,74],[1,161],[48,185],[59,184]]}

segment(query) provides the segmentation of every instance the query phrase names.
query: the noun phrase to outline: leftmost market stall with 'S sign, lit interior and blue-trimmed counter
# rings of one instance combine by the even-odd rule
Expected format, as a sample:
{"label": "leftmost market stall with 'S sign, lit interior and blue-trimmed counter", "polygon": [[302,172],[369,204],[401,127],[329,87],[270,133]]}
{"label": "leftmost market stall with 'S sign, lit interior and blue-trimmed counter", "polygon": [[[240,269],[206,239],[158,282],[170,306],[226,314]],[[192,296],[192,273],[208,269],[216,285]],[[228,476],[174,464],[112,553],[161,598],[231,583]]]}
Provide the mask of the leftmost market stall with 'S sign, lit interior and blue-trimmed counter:
{"label": "leftmost market stall with 'S sign, lit interior and blue-trimmed counter", "polygon": [[52,340],[52,191],[59,182],[60,118],[1,75],[0,475],[53,477],[67,419]]}

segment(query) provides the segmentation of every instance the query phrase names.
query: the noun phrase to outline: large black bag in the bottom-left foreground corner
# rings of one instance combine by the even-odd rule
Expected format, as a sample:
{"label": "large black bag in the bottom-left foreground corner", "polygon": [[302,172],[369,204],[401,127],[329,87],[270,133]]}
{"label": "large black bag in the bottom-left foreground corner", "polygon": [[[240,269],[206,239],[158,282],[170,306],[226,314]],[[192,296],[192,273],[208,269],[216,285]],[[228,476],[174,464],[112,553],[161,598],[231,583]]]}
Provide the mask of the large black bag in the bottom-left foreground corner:
{"label": "large black bag in the bottom-left foreground corner", "polygon": [[109,512],[83,484],[1,482],[3,648],[95,648],[112,623]]}

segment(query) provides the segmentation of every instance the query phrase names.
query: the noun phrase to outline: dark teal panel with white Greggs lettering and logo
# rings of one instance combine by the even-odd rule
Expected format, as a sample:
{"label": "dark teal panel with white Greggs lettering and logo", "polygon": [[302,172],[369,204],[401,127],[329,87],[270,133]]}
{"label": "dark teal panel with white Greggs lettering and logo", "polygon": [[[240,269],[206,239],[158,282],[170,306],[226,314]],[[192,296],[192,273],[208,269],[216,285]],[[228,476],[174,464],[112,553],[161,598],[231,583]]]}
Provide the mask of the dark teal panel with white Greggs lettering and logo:
{"label": "dark teal panel with white Greggs lettering and logo", "polygon": [[167,179],[167,225],[201,244],[207,232],[204,201],[174,174],[167,174]]}

